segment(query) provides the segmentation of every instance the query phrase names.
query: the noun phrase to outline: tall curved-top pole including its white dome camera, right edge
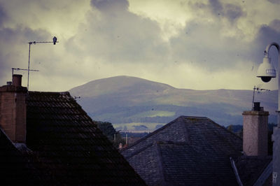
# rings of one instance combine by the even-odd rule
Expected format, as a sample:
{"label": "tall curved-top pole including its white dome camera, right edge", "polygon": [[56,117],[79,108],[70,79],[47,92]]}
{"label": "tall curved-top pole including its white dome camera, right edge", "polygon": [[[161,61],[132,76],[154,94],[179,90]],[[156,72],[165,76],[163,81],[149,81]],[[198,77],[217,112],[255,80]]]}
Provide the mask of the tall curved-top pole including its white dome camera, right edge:
{"label": "tall curved-top pole including its white dome camera, right edge", "polygon": [[262,64],[258,68],[258,78],[261,78],[265,83],[269,82],[271,78],[276,78],[276,70],[269,58],[269,49],[275,46],[278,50],[278,110],[277,113],[277,127],[273,129],[272,141],[273,143],[273,173],[272,173],[272,185],[280,185],[280,47],[277,43],[270,43],[265,49],[265,57]]}

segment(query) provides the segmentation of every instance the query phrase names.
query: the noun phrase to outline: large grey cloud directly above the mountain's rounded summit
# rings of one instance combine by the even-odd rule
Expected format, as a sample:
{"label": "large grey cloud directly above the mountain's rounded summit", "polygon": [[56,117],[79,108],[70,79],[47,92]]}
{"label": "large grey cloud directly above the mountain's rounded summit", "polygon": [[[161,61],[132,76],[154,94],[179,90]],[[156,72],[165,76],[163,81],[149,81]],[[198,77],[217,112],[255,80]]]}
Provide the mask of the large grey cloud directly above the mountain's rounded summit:
{"label": "large grey cloud directly above the mountain's rounded summit", "polygon": [[92,6],[100,14],[88,14],[83,32],[69,39],[68,50],[79,50],[81,56],[110,63],[156,62],[167,55],[167,43],[159,35],[158,23],[130,13],[127,1],[94,0]]}

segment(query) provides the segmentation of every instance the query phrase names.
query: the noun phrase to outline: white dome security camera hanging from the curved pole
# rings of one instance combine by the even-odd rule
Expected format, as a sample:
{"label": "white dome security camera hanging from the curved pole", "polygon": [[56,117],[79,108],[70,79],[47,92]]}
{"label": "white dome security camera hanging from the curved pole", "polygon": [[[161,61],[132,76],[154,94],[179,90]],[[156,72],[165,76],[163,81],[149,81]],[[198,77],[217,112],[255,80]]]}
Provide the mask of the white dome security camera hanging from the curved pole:
{"label": "white dome security camera hanging from the curved pole", "polygon": [[276,71],[274,66],[270,62],[270,58],[264,57],[262,64],[258,67],[258,78],[261,78],[263,82],[267,83],[271,78],[276,77]]}

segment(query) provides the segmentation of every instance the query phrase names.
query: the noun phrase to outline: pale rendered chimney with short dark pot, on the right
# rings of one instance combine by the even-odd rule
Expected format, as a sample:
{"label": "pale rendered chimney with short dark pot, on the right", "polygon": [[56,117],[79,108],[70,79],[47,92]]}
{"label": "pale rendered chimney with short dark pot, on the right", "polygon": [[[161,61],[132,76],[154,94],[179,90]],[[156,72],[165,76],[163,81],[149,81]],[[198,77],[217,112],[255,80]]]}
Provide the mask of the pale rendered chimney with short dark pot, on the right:
{"label": "pale rendered chimney with short dark pot, on the right", "polygon": [[243,115],[243,151],[247,156],[267,156],[268,115],[254,103],[253,110],[244,111]]}

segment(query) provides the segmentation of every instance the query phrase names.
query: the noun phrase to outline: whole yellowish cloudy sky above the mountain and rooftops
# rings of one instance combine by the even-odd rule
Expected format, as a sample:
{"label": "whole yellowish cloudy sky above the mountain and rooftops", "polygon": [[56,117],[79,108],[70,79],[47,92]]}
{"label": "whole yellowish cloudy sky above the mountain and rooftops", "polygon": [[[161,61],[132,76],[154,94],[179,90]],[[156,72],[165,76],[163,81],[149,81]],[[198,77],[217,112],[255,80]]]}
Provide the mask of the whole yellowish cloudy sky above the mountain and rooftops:
{"label": "whole yellowish cloudy sky above the mountain and rooftops", "polygon": [[[29,90],[66,91],[136,76],[178,88],[277,89],[255,78],[280,43],[278,0],[0,0],[0,83],[27,69]],[[277,51],[269,51],[277,67]],[[27,71],[23,75],[27,85]]]}

